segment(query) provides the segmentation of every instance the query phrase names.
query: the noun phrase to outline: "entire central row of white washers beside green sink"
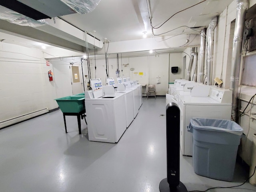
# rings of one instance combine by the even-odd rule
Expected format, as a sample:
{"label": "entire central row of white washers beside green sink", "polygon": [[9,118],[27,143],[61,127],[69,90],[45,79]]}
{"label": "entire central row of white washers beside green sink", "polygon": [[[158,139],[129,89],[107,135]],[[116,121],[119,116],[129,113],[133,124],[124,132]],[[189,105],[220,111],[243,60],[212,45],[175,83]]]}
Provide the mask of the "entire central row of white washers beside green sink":
{"label": "entire central row of white washers beside green sink", "polygon": [[[90,141],[115,143],[124,134],[141,106],[140,85],[102,86],[101,79],[91,80],[91,91],[85,92],[86,120]],[[117,87],[115,90],[114,87]]]}

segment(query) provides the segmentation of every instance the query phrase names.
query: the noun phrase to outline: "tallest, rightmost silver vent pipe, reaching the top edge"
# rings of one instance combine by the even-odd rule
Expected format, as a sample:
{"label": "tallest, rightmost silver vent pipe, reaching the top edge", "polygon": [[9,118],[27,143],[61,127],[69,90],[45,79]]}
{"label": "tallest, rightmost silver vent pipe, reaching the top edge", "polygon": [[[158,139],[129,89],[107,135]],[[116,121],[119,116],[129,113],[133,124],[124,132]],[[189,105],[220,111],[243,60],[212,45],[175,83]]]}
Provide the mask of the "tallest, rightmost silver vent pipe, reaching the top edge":
{"label": "tallest, rightmost silver vent pipe, reaching the top edge", "polygon": [[238,83],[239,71],[242,52],[242,40],[244,31],[244,22],[246,10],[249,8],[249,0],[237,0],[236,6],[236,24],[233,39],[232,60],[231,60],[231,75],[230,75],[230,90],[232,90],[232,118],[238,120]]}

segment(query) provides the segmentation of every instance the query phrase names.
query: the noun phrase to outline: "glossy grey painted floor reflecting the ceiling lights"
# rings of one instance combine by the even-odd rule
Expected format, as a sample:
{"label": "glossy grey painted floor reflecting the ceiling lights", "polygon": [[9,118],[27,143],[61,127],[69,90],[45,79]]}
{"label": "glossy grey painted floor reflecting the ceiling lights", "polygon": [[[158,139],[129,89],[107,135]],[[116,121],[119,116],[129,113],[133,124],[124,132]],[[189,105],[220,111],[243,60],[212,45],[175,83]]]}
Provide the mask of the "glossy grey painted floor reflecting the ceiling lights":
{"label": "glossy grey painted floor reflecting the ceiling lights", "polygon": [[[1,192],[158,192],[166,177],[165,98],[144,99],[139,114],[117,144],[88,141],[82,121],[60,110],[0,130]],[[248,176],[236,166],[233,182],[198,176],[192,158],[180,158],[180,180],[188,190],[233,186]],[[211,192],[251,192],[238,189]]]}

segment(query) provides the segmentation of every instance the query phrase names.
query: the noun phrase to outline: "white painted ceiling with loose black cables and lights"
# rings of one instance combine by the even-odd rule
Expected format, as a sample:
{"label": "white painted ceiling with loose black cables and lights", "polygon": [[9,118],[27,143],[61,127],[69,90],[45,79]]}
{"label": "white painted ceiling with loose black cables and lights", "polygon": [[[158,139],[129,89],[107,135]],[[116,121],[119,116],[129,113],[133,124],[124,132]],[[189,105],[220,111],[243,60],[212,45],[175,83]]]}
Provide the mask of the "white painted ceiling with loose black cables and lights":
{"label": "white painted ceiling with loose black cables and lights", "polygon": [[[219,15],[233,0],[149,0],[152,13],[152,26],[158,27],[170,16],[202,2],[192,8],[182,11],[168,20],[154,34],[161,34],[180,26],[208,27],[213,16]],[[77,28],[95,34],[96,38],[110,42],[137,40],[142,38],[142,32],[147,32],[147,38],[152,38],[148,6],[146,0],[101,0],[95,10],[87,14],[70,14],[60,16],[61,19]],[[195,28],[196,29],[196,28]],[[200,30],[202,28],[198,28]],[[96,31],[95,33],[93,31]],[[178,28],[161,36],[180,33],[195,33],[186,27]],[[42,43],[18,38],[0,33],[0,40],[7,43],[20,44],[28,47],[41,48]],[[160,52],[179,52],[184,48],[162,50]],[[148,54],[136,52],[134,55]],[[157,53],[153,53],[157,54]],[[131,53],[123,54],[131,56]]]}

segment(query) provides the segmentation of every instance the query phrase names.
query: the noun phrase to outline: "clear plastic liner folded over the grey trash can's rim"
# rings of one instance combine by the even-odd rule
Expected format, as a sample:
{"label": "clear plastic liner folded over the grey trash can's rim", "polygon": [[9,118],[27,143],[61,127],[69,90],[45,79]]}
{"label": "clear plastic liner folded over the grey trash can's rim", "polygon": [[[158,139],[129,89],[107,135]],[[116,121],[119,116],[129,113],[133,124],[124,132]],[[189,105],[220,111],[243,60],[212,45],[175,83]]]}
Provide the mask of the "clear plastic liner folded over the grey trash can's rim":
{"label": "clear plastic liner folded over the grey trash can's rim", "polygon": [[191,118],[190,124],[195,129],[229,132],[236,135],[242,135],[244,131],[236,122],[224,119]]}

